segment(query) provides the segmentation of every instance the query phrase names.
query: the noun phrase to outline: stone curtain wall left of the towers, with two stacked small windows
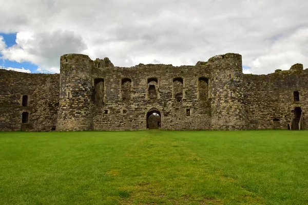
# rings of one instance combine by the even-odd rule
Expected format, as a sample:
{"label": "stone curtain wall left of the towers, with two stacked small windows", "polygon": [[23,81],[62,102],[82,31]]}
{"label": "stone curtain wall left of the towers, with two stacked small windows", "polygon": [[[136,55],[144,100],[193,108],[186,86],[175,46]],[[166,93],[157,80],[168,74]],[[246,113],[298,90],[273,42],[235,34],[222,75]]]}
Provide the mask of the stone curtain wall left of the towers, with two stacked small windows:
{"label": "stone curtain wall left of the towers, with two stacked small windows", "polygon": [[[0,131],[51,131],[59,106],[59,74],[29,74],[0,69]],[[28,96],[23,106],[23,96]],[[28,122],[22,123],[22,113]]]}

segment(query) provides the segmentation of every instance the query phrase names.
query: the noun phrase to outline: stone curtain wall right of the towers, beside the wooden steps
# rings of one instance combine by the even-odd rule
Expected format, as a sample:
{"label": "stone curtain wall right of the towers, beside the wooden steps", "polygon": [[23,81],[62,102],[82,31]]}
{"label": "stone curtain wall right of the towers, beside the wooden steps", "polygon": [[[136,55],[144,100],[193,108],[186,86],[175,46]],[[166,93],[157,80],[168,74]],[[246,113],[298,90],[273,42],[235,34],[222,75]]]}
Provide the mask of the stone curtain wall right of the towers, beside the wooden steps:
{"label": "stone curtain wall right of the towers, beside the wooden steps", "polygon": [[[304,113],[304,127],[308,129],[308,69],[296,64],[290,70],[268,75],[245,74],[243,81],[247,129],[287,129],[295,107]],[[299,92],[299,101],[294,101],[294,91]]]}

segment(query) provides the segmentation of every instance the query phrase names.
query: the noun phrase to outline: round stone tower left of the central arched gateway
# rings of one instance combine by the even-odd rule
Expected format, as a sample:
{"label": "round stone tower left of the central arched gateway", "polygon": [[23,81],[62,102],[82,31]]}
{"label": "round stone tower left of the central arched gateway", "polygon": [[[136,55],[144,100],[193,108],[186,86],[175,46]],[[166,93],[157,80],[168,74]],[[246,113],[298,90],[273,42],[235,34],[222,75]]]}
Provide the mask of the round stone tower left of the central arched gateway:
{"label": "round stone tower left of the central arched gateway", "polygon": [[57,131],[92,130],[92,67],[87,55],[61,56]]}

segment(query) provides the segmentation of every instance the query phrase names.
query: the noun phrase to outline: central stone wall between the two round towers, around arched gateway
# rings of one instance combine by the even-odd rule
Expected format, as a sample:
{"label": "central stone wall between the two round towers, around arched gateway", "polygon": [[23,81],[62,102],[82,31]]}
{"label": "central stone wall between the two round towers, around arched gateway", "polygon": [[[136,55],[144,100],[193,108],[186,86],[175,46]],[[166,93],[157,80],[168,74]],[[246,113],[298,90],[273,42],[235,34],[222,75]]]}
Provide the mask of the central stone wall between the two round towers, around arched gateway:
{"label": "central stone wall between the two round towers, around arched gateway", "polygon": [[[130,68],[94,68],[93,81],[95,78],[103,78],[105,81],[105,101],[104,105],[94,106],[93,128],[94,130],[146,129],[147,112],[156,108],[161,113],[162,129],[208,130],[210,129],[209,99],[199,99],[197,95],[199,77],[209,77],[209,75],[210,70],[207,65],[174,67],[140,64]],[[125,78],[131,80],[130,100],[121,97],[122,79]],[[152,78],[157,79],[157,83],[151,80]],[[176,91],[175,78],[183,79],[181,88]],[[149,96],[149,84],[155,86],[156,97]],[[178,84],[176,86],[179,87]],[[183,93],[181,100],[176,99],[174,94],[179,90]],[[190,112],[189,116],[186,114],[187,109]]]}

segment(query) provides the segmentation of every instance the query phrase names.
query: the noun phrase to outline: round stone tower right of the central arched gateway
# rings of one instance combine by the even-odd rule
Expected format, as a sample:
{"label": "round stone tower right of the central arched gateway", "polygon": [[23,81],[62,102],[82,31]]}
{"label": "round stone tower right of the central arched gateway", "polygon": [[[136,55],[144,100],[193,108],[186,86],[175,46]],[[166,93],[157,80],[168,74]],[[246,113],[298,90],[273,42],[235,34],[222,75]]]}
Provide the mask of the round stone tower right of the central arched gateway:
{"label": "round stone tower right of the central arched gateway", "polygon": [[211,129],[245,129],[242,56],[235,53],[217,55],[208,63],[211,69]]}

